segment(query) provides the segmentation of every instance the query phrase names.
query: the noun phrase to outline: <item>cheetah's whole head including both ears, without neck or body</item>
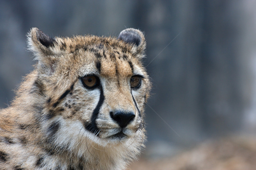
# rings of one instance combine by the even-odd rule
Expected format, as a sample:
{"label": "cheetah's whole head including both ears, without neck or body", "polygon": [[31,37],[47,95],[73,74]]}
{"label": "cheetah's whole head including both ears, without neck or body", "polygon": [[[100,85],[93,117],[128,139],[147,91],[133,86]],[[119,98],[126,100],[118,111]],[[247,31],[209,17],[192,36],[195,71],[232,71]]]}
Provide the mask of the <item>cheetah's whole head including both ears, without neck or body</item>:
{"label": "cheetah's whole head including both ears, without neck or body", "polygon": [[141,62],[145,47],[143,34],[131,28],[118,38],[50,38],[32,28],[29,48],[38,60],[35,86],[46,108],[40,115],[49,121],[46,129],[57,123],[65,128],[56,133],[66,140],[100,145],[143,142],[150,89]]}

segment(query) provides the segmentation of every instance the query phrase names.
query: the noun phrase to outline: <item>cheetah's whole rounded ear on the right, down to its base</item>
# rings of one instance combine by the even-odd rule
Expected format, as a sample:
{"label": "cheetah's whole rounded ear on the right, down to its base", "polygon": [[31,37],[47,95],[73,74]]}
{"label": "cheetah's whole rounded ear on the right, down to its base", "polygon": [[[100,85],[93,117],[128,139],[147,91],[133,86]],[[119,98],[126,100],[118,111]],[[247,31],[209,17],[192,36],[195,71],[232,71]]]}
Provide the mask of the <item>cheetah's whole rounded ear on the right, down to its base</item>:
{"label": "cheetah's whole rounded ear on the right, down to its base", "polygon": [[118,36],[118,39],[123,40],[124,42],[133,46],[133,50],[135,53],[141,54],[144,56],[146,50],[146,40],[144,34],[138,30],[133,28],[127,28]]}

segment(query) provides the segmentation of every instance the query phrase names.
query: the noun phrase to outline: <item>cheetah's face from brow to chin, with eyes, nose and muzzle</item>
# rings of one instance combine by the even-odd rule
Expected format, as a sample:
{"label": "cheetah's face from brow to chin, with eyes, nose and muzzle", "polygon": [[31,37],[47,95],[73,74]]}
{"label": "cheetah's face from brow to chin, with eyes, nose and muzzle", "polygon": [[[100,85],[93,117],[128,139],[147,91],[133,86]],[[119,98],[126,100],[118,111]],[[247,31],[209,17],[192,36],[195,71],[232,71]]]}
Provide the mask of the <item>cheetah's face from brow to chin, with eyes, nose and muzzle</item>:
{"label": "cheetah's face from brow to chin, with eyes, nose and muzzle", "polygon": [[[120,65],[113,62],[113,68],[109,62],[102,60],[101,68],[97,70],[115,70],[115,74],[85,73],[77,82],[79,91],[86,96],[82,102],[92,101],[90,108],[86,108],[87,114],[81,113],[81,119],[85,128],[95,136],[112,142],[123,141],[134,136],[138,130],[138,133],[143,131],[141,110],[146,100],[144,84],[148,82],[144,72],[138,70],[133,73],[135,70],[127,61],[118,61]],[[123,67],[126,71],[118,72],[116,67]]]}

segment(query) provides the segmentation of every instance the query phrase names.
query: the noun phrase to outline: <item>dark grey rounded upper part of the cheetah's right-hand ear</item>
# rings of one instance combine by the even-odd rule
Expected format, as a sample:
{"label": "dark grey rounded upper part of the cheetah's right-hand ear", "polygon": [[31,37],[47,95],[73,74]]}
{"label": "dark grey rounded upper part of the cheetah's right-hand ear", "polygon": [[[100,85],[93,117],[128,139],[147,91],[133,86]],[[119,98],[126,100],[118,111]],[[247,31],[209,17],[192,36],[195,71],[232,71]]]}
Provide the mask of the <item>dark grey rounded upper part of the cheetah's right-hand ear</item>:
{"label": "dark grey rounded upper part of the cheetah's right-hand ear", "polygon": [[135,44],[136,46],[139,46],[141,44],[141,35],[139,33],[139,30],[133,29],[133,28],[127,28],[118,36],[118,39],[123,40],[124,42]]}

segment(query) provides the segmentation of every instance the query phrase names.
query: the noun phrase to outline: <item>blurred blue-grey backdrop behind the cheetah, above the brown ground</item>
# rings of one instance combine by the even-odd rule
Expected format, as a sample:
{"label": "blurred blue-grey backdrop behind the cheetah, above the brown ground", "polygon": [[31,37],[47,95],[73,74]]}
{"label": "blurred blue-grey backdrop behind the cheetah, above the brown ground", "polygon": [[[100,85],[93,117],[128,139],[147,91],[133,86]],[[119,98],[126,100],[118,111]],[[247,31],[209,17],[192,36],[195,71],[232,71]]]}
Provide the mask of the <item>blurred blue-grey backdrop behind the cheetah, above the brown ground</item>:
{"label": "blurred blue-grey backdrop behind the cheetah, above the brown ground", "polygon": [[256,1],[0,1],[0,107],[32,70],[26,33],[145,32],[152,82],[143,156],[256,130]]}

